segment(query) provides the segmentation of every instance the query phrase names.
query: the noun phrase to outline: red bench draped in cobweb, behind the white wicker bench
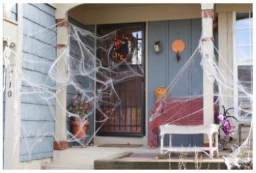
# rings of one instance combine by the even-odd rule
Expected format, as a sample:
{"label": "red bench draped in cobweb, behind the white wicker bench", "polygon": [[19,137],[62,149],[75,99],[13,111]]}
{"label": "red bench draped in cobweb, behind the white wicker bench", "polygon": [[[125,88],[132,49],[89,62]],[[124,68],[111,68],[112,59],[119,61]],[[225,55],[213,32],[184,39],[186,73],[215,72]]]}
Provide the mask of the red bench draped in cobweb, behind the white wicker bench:
{"label": "red bench draped in cobweb, behind the white wicker bench", "polygon": [[166,98],[155,103],[152,115],[156,117],[150,120],[150,148],[159,144],[160,125],[203,125],[203,98]]}

